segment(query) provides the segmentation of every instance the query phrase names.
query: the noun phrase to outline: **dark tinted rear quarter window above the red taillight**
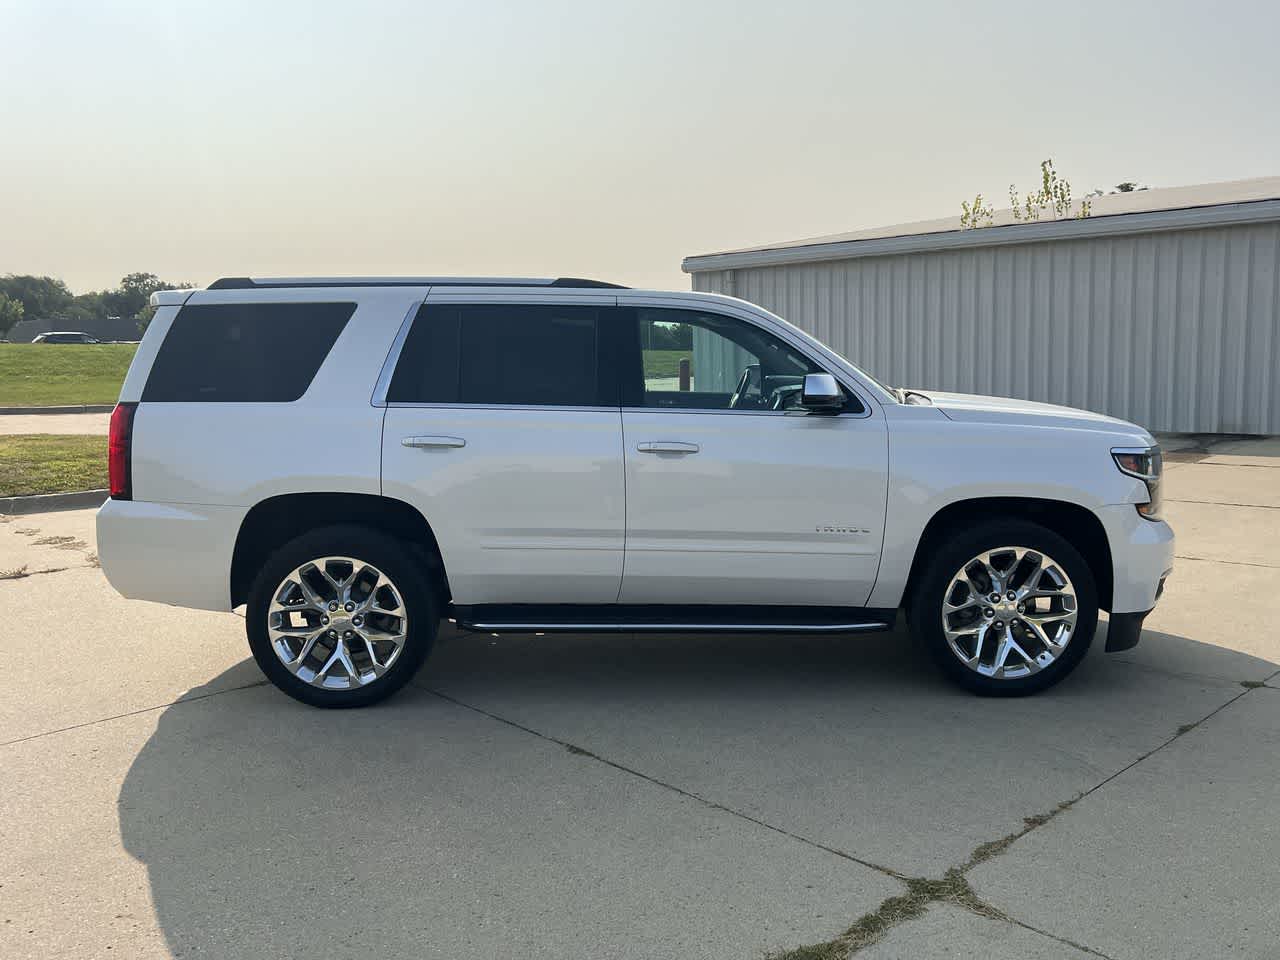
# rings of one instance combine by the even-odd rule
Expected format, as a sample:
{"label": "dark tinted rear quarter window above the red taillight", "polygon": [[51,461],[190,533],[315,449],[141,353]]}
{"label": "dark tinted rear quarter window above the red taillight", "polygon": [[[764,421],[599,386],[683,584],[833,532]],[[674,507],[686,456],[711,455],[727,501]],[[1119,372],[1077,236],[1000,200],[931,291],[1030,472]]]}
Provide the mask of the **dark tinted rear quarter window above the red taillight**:
{"label": "dark tinted rear quarter window above the red taillight", "polygon": [[142,399],[296,401],[355,311],[355,303],[184,306],[160,344]]}

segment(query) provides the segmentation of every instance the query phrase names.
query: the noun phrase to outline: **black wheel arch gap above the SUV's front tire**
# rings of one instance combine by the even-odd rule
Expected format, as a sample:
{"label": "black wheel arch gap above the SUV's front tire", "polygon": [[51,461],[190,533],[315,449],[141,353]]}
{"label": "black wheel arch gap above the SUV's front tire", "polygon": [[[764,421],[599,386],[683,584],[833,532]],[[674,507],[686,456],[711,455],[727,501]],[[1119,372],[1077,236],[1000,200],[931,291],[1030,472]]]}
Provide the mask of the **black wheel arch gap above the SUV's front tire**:
{"label": "black wheel arch gap above the SUV's front tire", "polygon": [[924,526],[915,545],[911,568],[902,593],[902,605],[910,608],[911,594],[924,571],[927,558],[937,544],[965,527],[973,526],[974,513],[1000,516],[1001,520],[1027,520],[1039,524],[1070,543],[1093,571],[1098,590],[1098,605],[1111,609],[1115,571],[1111,563],[1111,543],[1106,527],[1088,507],[1066,500],[1034,497],[978,497],[956,500],[938,509]]}

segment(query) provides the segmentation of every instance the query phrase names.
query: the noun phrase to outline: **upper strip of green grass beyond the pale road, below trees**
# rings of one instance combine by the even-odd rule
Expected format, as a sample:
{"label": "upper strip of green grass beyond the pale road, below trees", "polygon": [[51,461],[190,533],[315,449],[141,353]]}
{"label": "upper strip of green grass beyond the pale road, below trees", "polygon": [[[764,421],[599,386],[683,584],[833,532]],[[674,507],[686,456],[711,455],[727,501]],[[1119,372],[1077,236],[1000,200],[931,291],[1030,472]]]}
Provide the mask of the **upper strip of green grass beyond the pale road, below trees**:
{"label": "upper strip of green grass beyond the pale road, below trees", "polygon": [[0,407],[115,403],[134,343],[0,343]]}

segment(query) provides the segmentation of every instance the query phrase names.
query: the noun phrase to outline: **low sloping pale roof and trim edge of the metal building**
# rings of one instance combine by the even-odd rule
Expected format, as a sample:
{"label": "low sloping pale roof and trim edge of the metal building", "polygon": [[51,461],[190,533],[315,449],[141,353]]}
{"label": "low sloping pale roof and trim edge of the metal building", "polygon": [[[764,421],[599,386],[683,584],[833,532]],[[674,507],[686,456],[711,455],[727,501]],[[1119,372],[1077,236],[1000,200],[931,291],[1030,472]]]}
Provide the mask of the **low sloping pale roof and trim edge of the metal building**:
{"label": "low sloping pale roof and trim edge of the metal building", "polygon": [[[1280,177],[1161,187],[1091,197],[1087,219],[1020,223],[1011,209],[996,210],[989,227],[963,230],[959,216],[877,227],[869,230],[765,243],[685,257],[685,273],[846,260],[963,246],[1024,243],[1066,237],[1142,233],[1280,219]],[[1079,200],[1074,205],[1079,210]]]}

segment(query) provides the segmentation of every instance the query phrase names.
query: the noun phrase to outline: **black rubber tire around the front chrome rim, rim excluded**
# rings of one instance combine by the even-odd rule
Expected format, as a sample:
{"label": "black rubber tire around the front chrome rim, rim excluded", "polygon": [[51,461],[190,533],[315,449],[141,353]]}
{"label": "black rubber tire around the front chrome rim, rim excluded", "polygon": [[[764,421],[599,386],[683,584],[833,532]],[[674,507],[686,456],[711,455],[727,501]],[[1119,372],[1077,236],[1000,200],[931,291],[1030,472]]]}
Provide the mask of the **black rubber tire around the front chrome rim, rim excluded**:
{"label": "black rubber tire around the front chrome rim, rim excluded", "polygon": [[[942,631],[941,611],[947,585],[961,566],[1000,547],[1027,547],[1052,557],[1075,588],[1076,622],[1056,660],[1029,676],[997,680],[970,669],[952,652]],[[1025,696],[1053,686],[1084,659],[1098,626],[1098,591],[1089,564],[1062,536],[1028,521],[993,521],[952,534],[933,552],[913,590],[908,620],[915,640],[960,686],[984,696]]]}

